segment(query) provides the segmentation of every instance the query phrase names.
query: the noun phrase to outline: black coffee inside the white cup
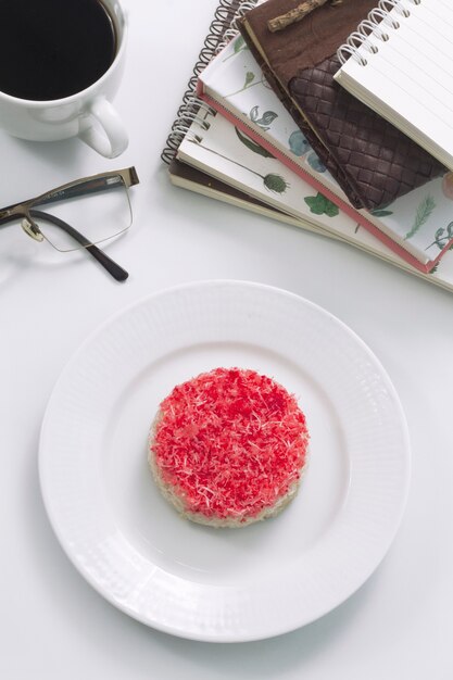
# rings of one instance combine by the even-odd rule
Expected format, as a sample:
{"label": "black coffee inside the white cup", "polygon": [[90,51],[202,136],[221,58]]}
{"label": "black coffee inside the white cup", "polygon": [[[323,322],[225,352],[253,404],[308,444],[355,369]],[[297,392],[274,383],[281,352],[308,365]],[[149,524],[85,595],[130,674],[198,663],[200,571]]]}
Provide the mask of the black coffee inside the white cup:
{"label": "black coffee inside the white cup", "polygon": [[116,52],[100,0],[0,0],[0,91],[48,101],[92,85]]}

